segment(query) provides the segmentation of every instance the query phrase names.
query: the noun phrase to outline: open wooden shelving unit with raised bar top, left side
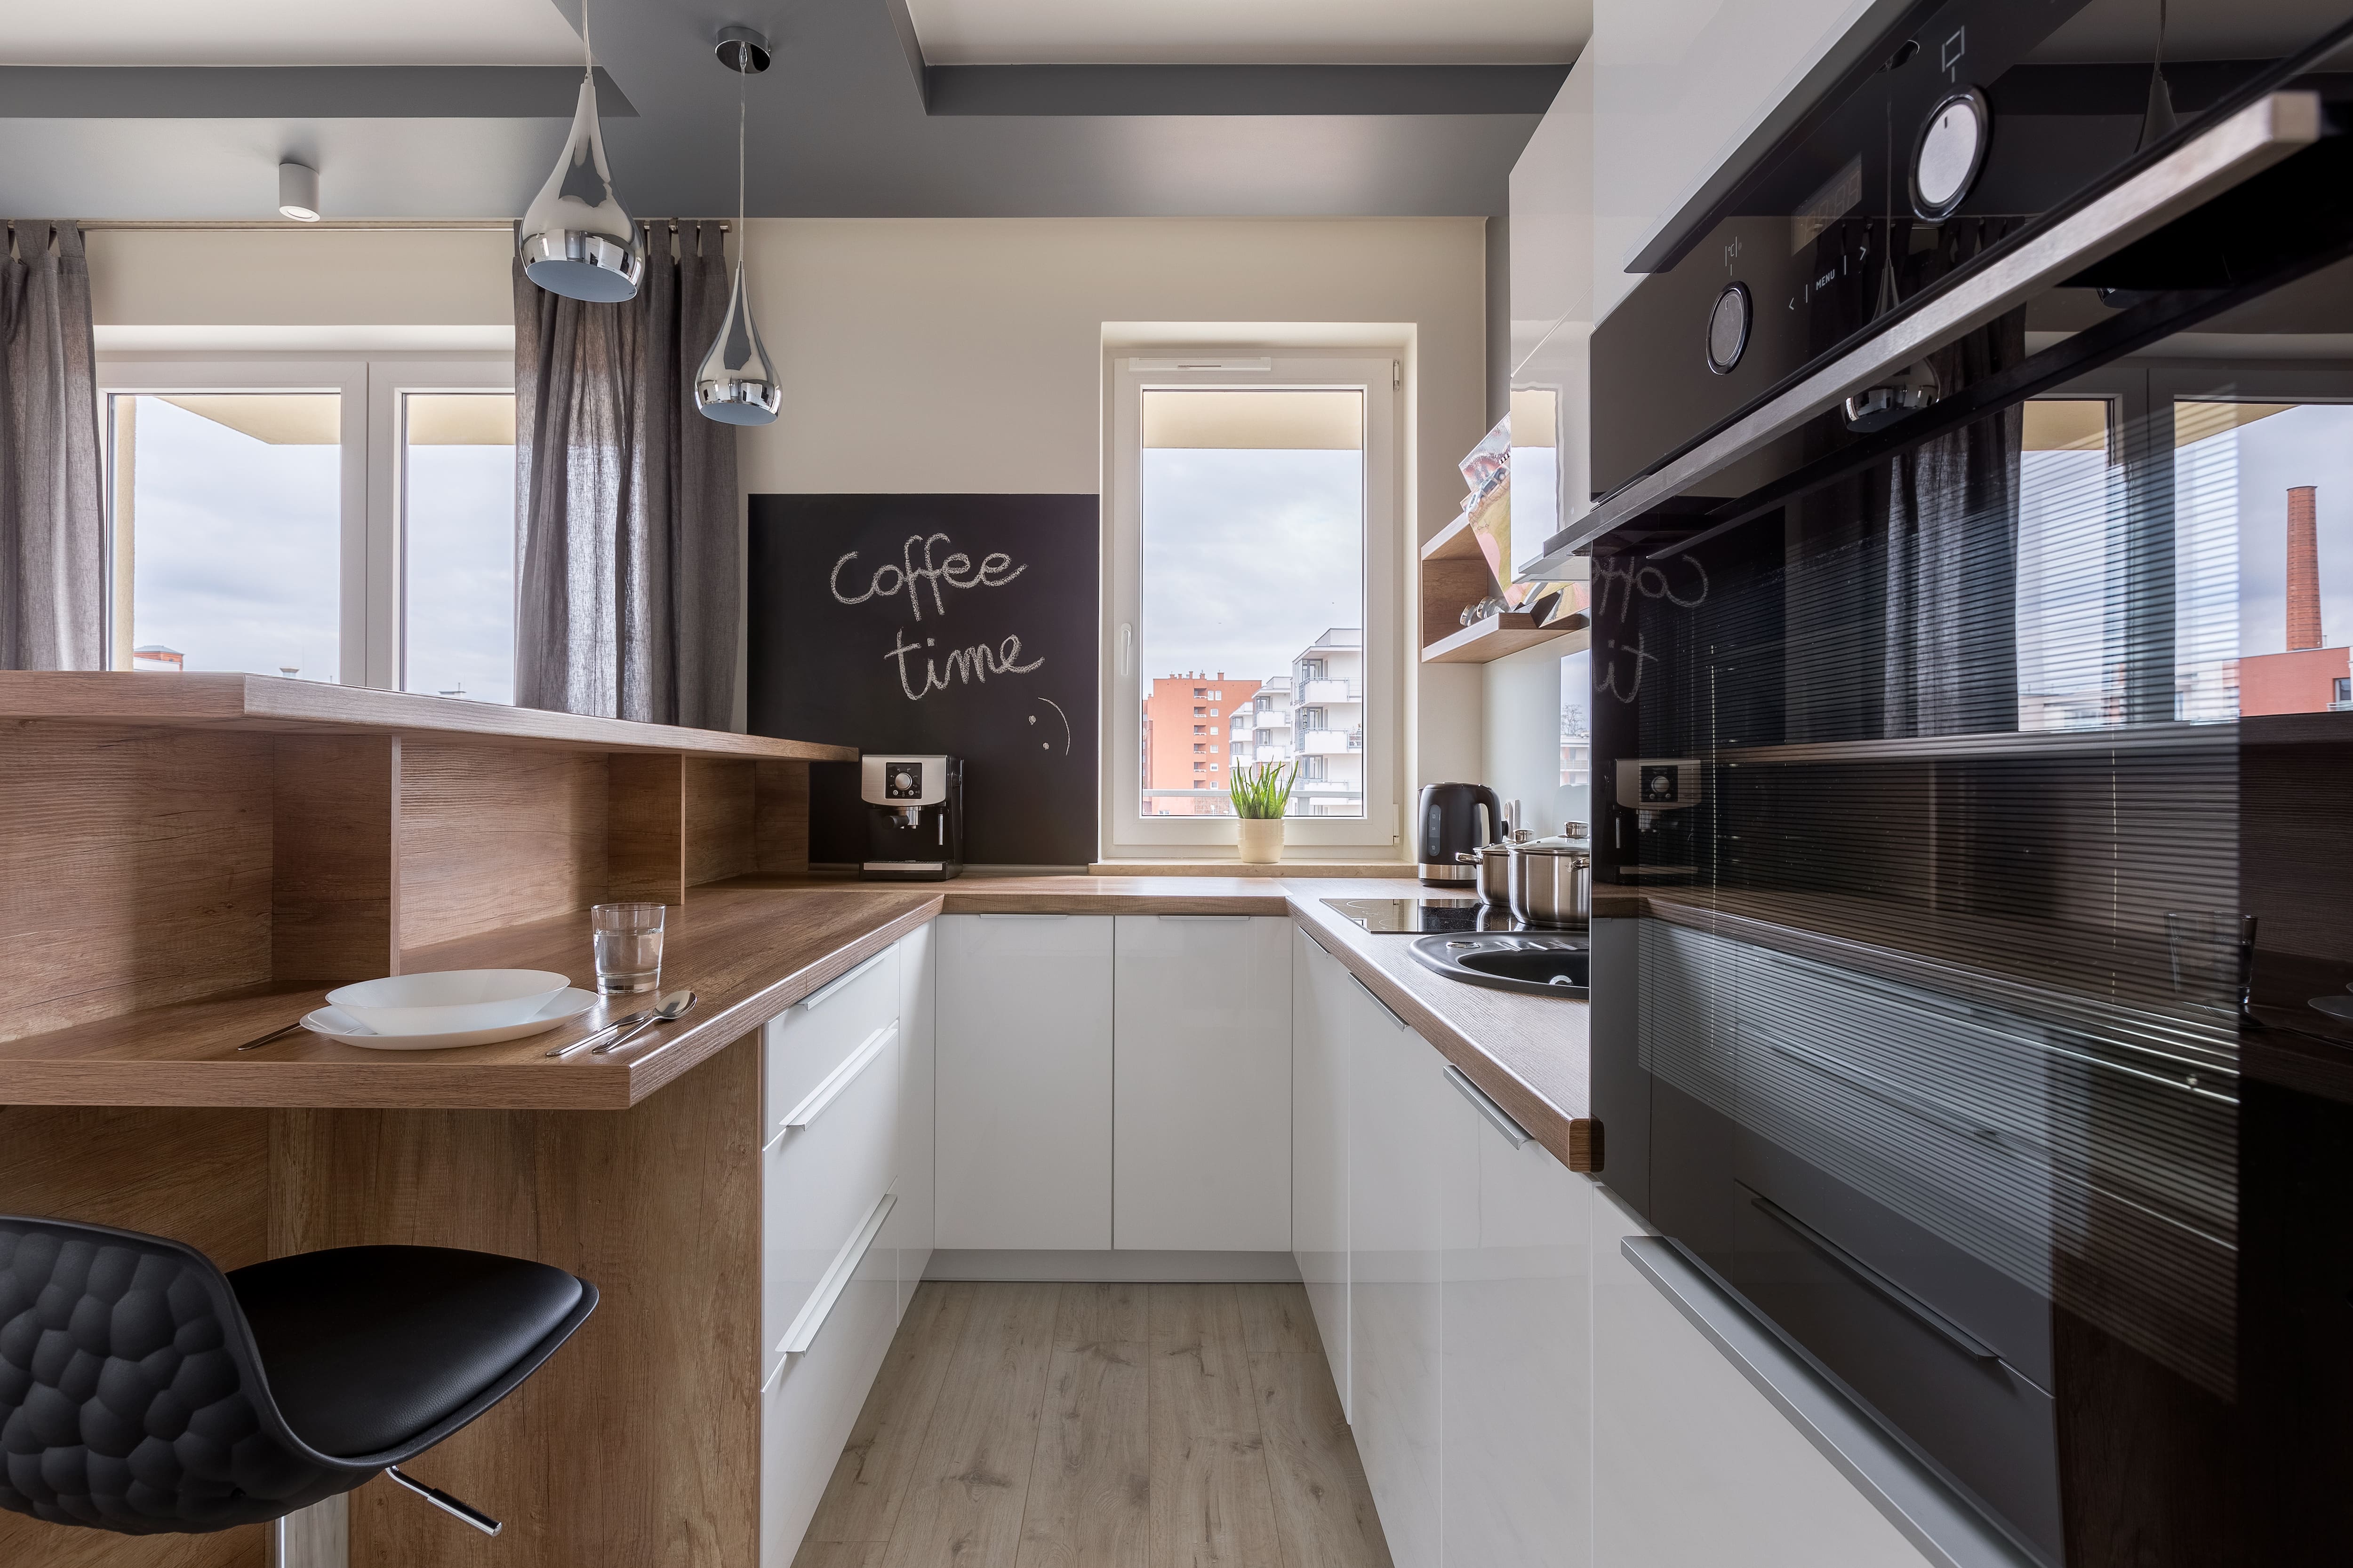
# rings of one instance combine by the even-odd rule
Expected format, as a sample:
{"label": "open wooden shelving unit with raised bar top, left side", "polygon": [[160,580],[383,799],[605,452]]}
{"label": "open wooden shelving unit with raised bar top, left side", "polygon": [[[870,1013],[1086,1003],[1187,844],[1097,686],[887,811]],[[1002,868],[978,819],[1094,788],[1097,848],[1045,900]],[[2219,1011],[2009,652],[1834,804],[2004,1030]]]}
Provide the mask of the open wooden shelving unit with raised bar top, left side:
{"label": "open wooden shelving unit with raised bar top, left side", "polygon": [[0,1041],[807,870],[849,748],[245,675],[0,675]]}

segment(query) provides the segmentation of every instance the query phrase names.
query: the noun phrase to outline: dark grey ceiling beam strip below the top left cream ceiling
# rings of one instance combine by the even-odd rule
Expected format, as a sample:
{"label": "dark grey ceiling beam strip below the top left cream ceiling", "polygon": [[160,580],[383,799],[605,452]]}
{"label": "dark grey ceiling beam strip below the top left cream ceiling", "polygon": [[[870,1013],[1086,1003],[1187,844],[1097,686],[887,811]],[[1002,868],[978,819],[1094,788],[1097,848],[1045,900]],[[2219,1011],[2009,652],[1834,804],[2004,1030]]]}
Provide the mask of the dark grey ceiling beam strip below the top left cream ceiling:
{"label": "dark grey ceiling beam strip below the top left cream ceiling", "polygon": [[[0,66],[0,120],[569,120],[574,66]],[[595,73],[600,115],[638,108]]]}

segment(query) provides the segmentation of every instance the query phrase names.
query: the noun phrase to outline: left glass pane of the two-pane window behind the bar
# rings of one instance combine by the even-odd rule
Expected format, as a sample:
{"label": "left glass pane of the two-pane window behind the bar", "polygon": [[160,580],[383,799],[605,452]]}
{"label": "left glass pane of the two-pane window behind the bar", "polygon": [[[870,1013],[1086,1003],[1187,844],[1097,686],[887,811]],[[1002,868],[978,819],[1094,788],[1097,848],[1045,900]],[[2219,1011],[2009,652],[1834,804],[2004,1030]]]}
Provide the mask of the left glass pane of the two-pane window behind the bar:
{"label": "left glass pane of the two-pane window behind the bar", "polygon": [[341,679],[334,393],[115,395],[115,668]]}

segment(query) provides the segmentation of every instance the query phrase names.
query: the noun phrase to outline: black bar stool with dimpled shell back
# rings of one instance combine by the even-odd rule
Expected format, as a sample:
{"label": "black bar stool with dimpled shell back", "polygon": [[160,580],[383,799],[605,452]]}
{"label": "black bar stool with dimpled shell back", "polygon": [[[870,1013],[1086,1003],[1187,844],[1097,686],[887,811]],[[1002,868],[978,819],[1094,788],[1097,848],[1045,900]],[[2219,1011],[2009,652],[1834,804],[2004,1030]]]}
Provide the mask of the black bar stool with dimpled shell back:
{"label": "black bar stool with dimpled shell back", "polygon": [[0,1507],[122,1535],[266,1523],[400,1474],[595,1312],[522,1258],[346,1246],[224,1274],[165,1237],[0,1215]]}

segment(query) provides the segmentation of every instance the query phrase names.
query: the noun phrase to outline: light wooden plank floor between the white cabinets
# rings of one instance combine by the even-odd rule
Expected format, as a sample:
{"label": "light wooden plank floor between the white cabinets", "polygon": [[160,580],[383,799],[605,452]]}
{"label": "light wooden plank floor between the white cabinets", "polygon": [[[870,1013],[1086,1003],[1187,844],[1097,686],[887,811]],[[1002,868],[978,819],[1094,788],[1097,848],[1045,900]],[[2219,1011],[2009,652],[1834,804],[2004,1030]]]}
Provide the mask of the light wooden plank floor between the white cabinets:
{"label": "light wooden plank floor between the white cabinets", "polygon": [[927,1281],[795,1568],[1388,1568],[1299,1286]]}

